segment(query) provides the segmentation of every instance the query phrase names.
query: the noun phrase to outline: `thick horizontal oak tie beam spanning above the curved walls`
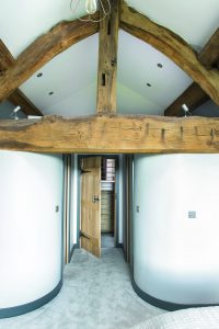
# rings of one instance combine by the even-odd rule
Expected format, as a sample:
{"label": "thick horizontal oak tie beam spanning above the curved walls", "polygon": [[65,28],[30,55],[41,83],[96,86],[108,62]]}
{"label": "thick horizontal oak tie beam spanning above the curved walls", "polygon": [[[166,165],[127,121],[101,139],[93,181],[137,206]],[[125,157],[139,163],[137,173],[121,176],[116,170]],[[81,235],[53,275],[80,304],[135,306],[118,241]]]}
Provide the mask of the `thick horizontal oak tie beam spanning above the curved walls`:
{"label": "thick horizontal oak tie beam spanning above the curved walls", "polygon": [[94,115],[0,121],[0,149],[59,154],[219,152],[219,118]]}

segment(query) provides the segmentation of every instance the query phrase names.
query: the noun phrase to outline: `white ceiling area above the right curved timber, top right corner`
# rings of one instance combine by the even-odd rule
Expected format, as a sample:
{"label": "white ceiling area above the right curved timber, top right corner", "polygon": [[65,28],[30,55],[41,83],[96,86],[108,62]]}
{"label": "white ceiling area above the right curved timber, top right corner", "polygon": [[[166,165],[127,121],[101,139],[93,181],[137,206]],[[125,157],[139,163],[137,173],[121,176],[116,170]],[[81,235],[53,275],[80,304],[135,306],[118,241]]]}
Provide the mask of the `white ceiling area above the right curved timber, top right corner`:
{"label": "white ceiling area above the right curved timber, top right corner", "polygon": [[127,0],[155,23],[203,47],[219,26],[218,0]]}

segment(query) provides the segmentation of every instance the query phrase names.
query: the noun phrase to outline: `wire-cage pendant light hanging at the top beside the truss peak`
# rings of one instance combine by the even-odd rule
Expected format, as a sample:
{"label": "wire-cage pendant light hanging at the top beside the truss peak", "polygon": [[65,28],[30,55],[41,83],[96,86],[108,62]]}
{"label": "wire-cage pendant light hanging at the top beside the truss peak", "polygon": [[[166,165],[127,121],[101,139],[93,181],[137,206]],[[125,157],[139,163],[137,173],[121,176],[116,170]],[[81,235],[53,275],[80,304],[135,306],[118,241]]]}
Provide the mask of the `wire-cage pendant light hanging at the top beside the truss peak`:
{"label": "wire-cage pendant light hanging at the top beside the truss peak", "polygon": [[[85,9],[88,13],[88,19],[79,18],[79,10],[82,8]],[[71,0],[70,9],[73,14],[76,14],[77,19],[83,22],[100,22],[106,15],[111,13],[111,2],[110,0]],[[99,10],[102,9],[103,16],[100,20],[93,19],[93,14]]]}

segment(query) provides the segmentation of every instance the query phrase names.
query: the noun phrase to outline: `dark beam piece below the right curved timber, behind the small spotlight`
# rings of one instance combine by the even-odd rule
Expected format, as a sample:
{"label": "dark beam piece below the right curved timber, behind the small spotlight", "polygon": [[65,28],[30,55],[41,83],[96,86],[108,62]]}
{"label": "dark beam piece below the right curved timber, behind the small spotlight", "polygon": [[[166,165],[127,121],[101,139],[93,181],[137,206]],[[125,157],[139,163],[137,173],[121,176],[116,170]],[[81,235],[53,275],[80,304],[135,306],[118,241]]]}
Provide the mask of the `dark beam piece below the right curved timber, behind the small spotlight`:
{"label": "dark beam piece below the right curved timber, behind the small spotlight", "polygon": [[164,111],[164,115],[184,116],[185,113],[181,109],[183,104],[186,104],[189,112],[193,112],[209,99],[207,93],[194,82]]}

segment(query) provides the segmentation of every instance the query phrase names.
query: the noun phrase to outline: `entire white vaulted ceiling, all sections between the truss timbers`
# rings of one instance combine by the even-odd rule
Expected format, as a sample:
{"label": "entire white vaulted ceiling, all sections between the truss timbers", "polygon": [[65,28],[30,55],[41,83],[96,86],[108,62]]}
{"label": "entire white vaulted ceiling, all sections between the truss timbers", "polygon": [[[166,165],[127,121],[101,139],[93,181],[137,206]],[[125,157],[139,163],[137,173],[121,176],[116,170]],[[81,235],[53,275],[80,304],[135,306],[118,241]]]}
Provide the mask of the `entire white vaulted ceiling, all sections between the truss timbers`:
{"label": "entire white vaulted ceiling, all sections between the truss timbers", "polygon": [[[218,0],[127,2],[180,34],[198,50],[218,27]],[[58,22],[73,19],[69,0],[0,0],[0,37],[14,57]],[[21,90],[44,114],[95,113],[97,53],[96,34],[55,57],[23,83]],[[162,64],[162,68],[158,64]],[[192,79],[164,55],[119,32],[118,113],[162,115],[191,82]],[[54,93],[49,95],[49,92]]]}

